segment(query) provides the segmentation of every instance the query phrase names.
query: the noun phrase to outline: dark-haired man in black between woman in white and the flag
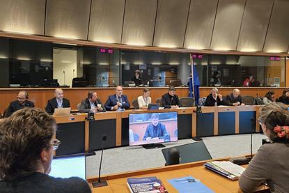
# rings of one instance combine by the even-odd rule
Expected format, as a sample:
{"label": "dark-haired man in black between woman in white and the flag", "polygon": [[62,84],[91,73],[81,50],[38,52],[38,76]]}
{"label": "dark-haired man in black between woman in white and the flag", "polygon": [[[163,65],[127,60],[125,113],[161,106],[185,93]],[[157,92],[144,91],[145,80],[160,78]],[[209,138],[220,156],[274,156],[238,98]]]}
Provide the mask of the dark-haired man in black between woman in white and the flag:
{"label": "dark-haired man in black between woman in white and the flag", "polygon": [[179,107],[178,95],[175,94],[175,87],[170,86],[169,92],[162,95],[162,107],[166,109],[176,109]]}

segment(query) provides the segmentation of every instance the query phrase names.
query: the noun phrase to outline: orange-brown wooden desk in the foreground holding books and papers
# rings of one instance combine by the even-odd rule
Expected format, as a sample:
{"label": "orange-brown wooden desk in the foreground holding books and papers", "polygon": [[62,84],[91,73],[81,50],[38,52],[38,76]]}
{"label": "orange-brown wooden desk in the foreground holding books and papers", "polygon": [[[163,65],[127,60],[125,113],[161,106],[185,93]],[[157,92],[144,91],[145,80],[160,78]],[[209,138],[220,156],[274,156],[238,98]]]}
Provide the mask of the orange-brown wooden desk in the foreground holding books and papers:
{"label": "orange-brown wooden desk in the foreground holding books and papers", "polygon": [[[229,157],[217,160],[228,160]],[[129,193],[130,190],[127,187],[127,178],[141,178],[155,176],[162,180],[166,190],[171,192],[177,192],[175,188],[167,181],[172,178],[182,178],[185,176],[193,176],[201,180],[201,183],[209,187],[214,192],[241,192],[238,185],[238,180],[230,180],[217,173],[214,173],[203,167],[203,164],[207,161],[192,162],[189,164],[178,164],[169,167],[159,167],[155,169],[145,169],[141,171],[132,171],[128,173],[117,173],[109,176],[102,176],[102,180],[107,180],[107,187],[93,188],[91,183],[97,181],[97,178],[88,178],[87,181],[91,185],[92,192],[103,193]],[[260,187],[260,190],[263,187]]]}

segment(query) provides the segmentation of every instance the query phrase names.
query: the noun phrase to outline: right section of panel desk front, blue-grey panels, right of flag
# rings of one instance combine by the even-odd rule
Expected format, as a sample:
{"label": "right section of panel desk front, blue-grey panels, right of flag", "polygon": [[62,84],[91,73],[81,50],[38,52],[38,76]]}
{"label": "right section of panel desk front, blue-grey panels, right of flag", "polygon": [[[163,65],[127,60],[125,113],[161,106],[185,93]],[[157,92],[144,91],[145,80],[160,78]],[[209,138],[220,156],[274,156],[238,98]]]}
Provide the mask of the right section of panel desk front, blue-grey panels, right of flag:
{"label": "right section of panel desk front, blue-grey panels, right of flag", "polygon": [[258,105],[202,107],[196,114],[196,136],[259,132],[259,110]]}

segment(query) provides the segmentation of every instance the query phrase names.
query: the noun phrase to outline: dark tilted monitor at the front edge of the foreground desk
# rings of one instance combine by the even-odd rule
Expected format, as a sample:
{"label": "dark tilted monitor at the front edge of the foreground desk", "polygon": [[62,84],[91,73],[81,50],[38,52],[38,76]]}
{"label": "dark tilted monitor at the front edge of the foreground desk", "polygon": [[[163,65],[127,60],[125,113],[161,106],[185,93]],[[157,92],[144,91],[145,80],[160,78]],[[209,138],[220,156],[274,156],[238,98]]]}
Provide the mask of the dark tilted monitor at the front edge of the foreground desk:
{"label": "dark tilted monitor at the front edge of the foreground desk", "polygon": [[[173,148],[176,148],[180,153],[180,164],[212,159],[203,141],[198,141],[192,144],[185,144],[181,146],[175,146]],[[164,160],[166,160],[166,162],[169,162],[170,149],[171,148],[162,149],[162,154],[164,155]]]}

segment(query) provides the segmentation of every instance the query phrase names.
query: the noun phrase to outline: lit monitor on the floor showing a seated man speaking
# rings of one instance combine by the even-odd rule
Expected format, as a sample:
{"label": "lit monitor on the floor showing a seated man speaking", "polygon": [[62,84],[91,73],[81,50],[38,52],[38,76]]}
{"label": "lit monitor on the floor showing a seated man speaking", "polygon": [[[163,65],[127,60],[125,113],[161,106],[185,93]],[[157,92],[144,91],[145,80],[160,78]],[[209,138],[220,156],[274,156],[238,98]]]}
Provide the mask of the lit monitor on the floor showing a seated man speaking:
{"label": "lit monitor on the floor showing a seated man speaking", "polygon": [[178,113],[130,114],[129,128],[130,146],[178,141]]}

